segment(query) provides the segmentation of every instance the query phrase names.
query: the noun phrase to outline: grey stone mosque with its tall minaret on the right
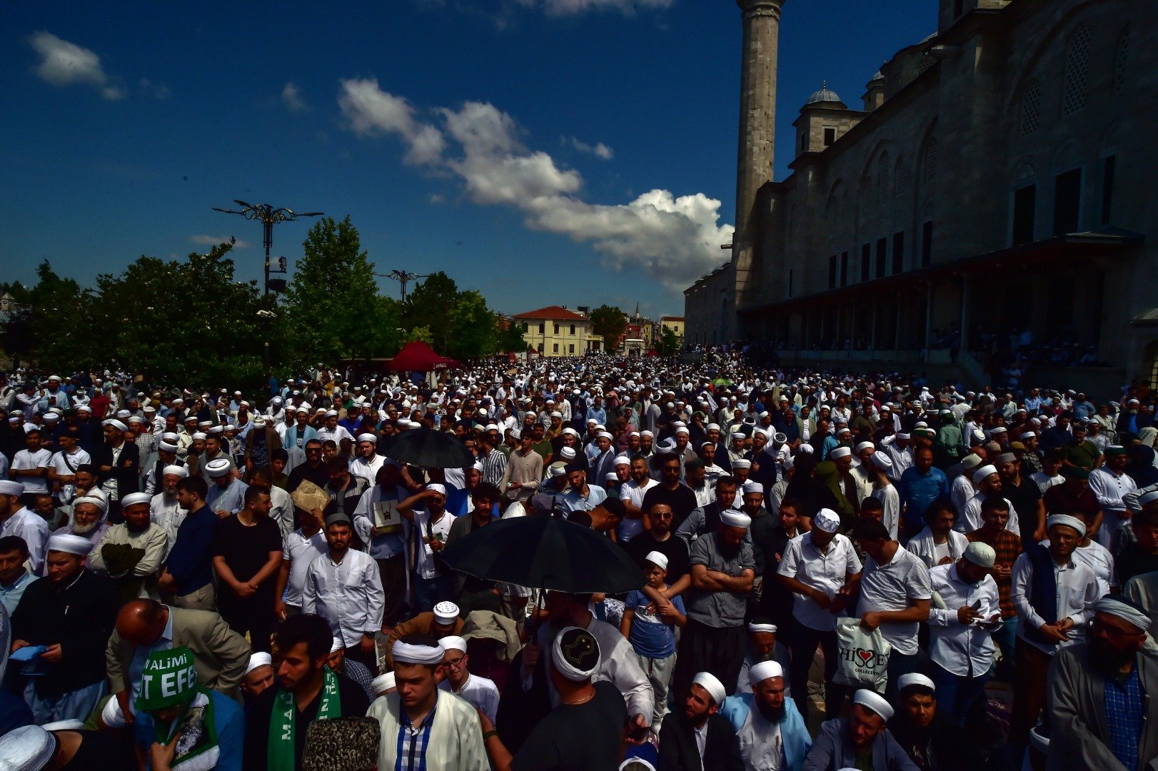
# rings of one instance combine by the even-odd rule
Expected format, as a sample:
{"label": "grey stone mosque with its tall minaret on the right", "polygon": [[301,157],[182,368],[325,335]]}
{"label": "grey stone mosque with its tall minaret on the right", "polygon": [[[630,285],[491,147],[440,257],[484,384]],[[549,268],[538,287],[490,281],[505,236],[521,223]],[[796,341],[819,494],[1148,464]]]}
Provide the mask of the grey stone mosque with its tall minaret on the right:
{"label": "grey stone mosque with its tall minaret on the right", "polygon": [[937,31],[859,100],[799,109],[776,181],[792,5],[738,0],[736,232],[684,291],[686,342],[985,382],[1032,351],[1043,377],[1082,358],[1091,382],[1158,387],[1158,2],[930,1]]}

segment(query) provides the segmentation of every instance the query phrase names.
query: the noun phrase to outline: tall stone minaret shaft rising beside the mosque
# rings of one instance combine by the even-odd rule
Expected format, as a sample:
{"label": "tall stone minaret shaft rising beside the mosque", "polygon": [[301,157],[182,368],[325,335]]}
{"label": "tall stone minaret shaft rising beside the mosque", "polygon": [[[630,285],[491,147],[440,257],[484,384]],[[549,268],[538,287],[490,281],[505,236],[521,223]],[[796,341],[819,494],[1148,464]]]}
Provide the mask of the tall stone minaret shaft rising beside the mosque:
{"label": "tall stone minaret shaft rising beside the mosque", "polygon": [[[740,65],[740,153],[735,175],[735,308],[742,303],[749,278],[758,279],[760,189],[772,179],[776,139],[776,58],[779,49],[780,6],[784,0],[736,0],[743,15],[743,51]],[[755,287],[753,287],[755,289]],[[727,330],[735,338],[739,329]]]}

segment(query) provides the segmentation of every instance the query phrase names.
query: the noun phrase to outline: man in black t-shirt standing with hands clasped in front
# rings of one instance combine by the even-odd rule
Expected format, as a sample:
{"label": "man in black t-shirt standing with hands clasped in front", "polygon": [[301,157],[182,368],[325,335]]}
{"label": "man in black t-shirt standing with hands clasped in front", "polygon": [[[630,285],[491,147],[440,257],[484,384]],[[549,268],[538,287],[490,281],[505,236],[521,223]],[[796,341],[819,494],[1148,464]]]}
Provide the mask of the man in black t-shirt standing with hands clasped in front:
{"label": "man in black t-shirt standing with hands clasped in front", "polygon": [[211,553],[220,579],[218,611],[233,631],[241,636],[249,632],[255,651],[269,651],[281,530],[270,519],[269,489],[247,487],[244,501],[240,512],[220,520],[213,531]]}

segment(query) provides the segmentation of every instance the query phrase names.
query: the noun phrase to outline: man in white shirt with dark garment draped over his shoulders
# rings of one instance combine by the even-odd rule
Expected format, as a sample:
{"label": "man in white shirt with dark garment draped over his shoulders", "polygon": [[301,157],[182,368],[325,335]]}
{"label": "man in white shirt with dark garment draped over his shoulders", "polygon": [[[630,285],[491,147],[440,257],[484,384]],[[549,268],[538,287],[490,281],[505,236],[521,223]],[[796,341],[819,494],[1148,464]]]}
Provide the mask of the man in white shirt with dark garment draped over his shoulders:
{"label": "man in white shirt with dark garment draped over his shoulders", "polygon": [[1013,563],[1010,579],[1018,617],[1011,744],[1028,741],[1046,704],[1049,662],[1058,647],[1085,640],[1090,607],[1098,600],[1093,571],[1072,558],[1085,537],[1085,523],[1054,514],[1046,519],[1046,529],[1049,546],[1029,546]]}

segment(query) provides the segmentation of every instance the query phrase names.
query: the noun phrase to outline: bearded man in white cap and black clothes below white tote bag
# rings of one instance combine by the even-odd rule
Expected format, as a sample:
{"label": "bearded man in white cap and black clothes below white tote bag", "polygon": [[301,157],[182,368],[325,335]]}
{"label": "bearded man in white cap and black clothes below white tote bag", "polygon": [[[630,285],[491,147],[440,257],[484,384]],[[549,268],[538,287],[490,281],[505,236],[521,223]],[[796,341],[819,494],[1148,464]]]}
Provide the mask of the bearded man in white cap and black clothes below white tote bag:
{"label": "bearded man in white cap and black clothes below white tote bag", "polygon": [[901,675],[897,713],[888,725],[896,743],[921,771],[973,771],[982,766],[976,742],[937,708],[937,686],[924,675]]}

